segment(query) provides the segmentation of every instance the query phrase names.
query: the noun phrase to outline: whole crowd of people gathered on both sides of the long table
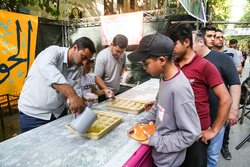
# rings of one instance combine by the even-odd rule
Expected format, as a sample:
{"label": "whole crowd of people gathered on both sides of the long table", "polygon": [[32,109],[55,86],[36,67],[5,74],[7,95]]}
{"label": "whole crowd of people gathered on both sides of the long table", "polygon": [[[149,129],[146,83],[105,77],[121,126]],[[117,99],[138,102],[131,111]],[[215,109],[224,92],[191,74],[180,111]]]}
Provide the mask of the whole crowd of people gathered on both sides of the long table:
{"label": "whole crowd of people gathered on both sides of the long table", "polygon": [[95,59],[95,45],[87,37],[70,48],[50,46],[36,57],[25,80],[18,102],[21,130],[68,112],[80,114],[97,97],[101,102],[119,94],[122,77],[129,79],[128,58],[161,76],[155,101],[138,121],[155,123],[156,132],[141,142],[152,146],[153,165],[217,166],[220,152],[227,160],[232,157],[229,132],[238,121],[239,77],[246,56],[236,50],[237,42],[232,39],[227,47],[223,31],[212,26],[193,31],[189,24],[175,24],[164,35],[144,36],[129,55],[122,34]]}

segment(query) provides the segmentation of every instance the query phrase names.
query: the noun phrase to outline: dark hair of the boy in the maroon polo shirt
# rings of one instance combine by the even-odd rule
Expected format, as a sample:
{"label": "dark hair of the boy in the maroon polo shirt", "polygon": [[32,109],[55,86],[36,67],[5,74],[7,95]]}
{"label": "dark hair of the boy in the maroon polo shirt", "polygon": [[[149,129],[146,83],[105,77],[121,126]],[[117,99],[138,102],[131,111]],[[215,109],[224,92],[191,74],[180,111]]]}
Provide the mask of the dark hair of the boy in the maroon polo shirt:
{"label": "dark hair of the boy in the maroon polo shirt", "polygon": [[188,38],[190,40],[190,47],[192,48],[193,46],[192,27],[190,24],[174,24],[167,29],[165,35],[174,42],[179,40],[182,44]]}

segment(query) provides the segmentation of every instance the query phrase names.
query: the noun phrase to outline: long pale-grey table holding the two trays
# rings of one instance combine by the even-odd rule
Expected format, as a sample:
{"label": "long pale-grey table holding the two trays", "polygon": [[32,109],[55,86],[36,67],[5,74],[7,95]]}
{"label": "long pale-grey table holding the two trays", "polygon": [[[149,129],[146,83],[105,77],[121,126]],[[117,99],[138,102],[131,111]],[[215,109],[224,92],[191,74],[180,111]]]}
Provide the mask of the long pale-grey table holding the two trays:
{"label": "long pale-grey table holding the two trays", "polygon": [[[159,79],[151,79],[117,98],[153,101],[159,88]],[[109,111],[105,102],[94,109],[123,116],[123,122],[99,140],[72,134],[65,125],[72,120],[67,115],[43,126],[22,133],[0,143],[0,166],[20,167],[119,167],[140,147],[140,143],[127,136],[127,130],[144,117]]]}

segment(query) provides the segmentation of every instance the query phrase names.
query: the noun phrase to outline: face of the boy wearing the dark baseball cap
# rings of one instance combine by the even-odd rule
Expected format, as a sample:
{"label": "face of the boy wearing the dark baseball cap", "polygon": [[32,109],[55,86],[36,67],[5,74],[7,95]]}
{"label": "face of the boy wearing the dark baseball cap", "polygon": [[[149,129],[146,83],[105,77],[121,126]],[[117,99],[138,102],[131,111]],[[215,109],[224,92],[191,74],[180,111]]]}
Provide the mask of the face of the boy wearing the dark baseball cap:
{"label": "face of the boy wearing the dark baseball cap", "polygon": [[158,76],[162,73],[163,68],[159,58],[152,59],[148,58],[143,61],[143,68],[152,76]]}

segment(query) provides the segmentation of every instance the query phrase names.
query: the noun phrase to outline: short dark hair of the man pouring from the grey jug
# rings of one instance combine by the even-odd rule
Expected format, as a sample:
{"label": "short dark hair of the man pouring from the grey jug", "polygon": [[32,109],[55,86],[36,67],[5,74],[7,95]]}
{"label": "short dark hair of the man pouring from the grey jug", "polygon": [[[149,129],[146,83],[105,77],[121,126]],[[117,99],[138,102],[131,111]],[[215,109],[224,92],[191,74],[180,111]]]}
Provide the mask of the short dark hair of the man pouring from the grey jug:
{"label": "short dark hair of the man pouring from the grey jug", "polygon": [[88,48],[89,51],[91,53],[95,53],[96,49],[95,49],[95,44],[94,42],[88,38],[88,37],[81,37],[78,38],[71,46],[70,48],[72,48],[74,45],[77,45],[78,50],[83,50]]}

